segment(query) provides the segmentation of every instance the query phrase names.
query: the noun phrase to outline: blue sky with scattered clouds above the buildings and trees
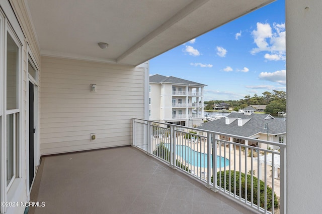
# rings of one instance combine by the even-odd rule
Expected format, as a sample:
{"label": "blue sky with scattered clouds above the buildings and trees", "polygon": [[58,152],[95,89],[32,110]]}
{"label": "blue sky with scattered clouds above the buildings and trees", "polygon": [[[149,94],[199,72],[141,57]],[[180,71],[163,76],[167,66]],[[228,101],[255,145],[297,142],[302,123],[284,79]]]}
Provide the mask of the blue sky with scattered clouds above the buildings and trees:
{"label": "blue sky with scattered clouds above the buildings and trees", "polygon": [[239,100],[264,91],[286,91],[285,2],[195,38],[149,61],[150,75],[207,85],[204,100]]}

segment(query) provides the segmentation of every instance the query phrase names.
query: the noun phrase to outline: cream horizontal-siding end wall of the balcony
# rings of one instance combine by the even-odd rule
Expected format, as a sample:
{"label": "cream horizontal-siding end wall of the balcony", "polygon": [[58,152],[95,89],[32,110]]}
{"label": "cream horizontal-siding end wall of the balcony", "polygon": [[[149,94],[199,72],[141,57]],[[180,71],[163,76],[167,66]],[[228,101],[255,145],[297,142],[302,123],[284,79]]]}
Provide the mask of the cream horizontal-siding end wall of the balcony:
{"label": "cream horizontal-siding end wall of the balcony", "polygon": [[143,68],[42,57],[41,70],[41,154],[131,144],[131,118],[144,118]]}

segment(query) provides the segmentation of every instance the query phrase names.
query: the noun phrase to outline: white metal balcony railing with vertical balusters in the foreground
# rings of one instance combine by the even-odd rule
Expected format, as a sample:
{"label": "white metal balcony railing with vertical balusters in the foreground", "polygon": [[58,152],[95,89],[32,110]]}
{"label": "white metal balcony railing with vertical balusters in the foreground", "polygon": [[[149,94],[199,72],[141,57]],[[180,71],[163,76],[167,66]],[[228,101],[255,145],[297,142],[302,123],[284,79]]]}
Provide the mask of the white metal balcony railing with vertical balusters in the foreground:
{"label": "white metal balcony railing with vertical balusters in the foreground", "polygon": [[260,213],[286,213],[286,144],[140,119],[132,125],[132,146]]}

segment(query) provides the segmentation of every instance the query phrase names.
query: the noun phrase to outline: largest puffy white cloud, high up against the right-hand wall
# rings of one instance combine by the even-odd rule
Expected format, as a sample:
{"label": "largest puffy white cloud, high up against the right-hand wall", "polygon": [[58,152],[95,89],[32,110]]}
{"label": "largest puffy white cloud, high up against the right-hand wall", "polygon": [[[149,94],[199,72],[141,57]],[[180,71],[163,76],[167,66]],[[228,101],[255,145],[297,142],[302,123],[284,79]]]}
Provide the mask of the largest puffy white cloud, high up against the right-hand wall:
{"label": "largest puffy white cloud, high up against the right-hand wall", "polygon": [[285,60],[285,23],[274,23],[273,28],[270,24],[257,23],[252,35],[257,48],[253,48],[251,54],[265,51],[271,53],[265,54],[267,60]]}

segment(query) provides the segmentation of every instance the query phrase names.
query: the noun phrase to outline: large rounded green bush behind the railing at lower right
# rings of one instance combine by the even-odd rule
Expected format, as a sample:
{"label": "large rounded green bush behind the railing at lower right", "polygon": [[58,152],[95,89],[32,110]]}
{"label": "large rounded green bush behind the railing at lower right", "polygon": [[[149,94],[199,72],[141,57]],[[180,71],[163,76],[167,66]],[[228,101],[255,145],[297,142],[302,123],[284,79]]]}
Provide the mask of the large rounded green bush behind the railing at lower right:
{"label": "large rounded green bush behind the railing at lower right", "polygon": [[[225,175],[224,173],[226,172],[226,184],[224,183],[224,178]],[[240,172],[241,174],[241,197],[245,198],[245,173]],[[220,182],[220,172],[217,173],[217,185],[219,186]],[[226,190],[229,190],[229,185],[230,185],[230,191],[232,193],[234,192],[234,171],[230,171],[230,184],[229,184],[229,170],[227,171],[221,171],[221,188],[224,188]],[[250,174],[247,175],[247,200],[251,201],[252,199],[252,177]],[[213,177],[211,177],[211,182],[213,182]],[[258,189],[258,179],[257,177],[253,176],[253,202],[254,204],[258,204],[257,201],[257,189]],[[239,171],[236,171],[236,195],[240,195],[239,193]],[[266,188],[266,195],[267,195],[267,203],[266,203],[266,208],[270,210],[272,208],[272,188],[267,186]],[[260,207],[264,208],[265,205],[265,182],[260,180]],[[276,194],[274,193],[274,207],[278,208],[278,199]]]}

